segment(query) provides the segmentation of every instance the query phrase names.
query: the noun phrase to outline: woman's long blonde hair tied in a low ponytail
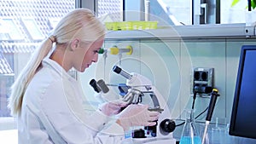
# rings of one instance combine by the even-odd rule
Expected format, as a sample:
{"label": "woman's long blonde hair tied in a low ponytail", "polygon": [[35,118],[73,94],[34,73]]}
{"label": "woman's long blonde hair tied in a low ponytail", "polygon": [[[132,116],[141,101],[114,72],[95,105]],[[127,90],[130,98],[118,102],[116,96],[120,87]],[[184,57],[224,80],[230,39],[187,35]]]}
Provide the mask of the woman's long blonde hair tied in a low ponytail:
{"label": "woman's long blonde hair tied in a low ponytail", "polygon": [[20,114],[26,88],[41,66],[44,57],[49,55],[53,43],[70,43],[73,37],[78,37],[85,42],[94,42],[104,36],[104,26],[90,9],[74,9],[66,14],[55,27],[51,36],[46,38],[34,51],[31,60],[28,61],[12,85],[8,105],[11,115]]}

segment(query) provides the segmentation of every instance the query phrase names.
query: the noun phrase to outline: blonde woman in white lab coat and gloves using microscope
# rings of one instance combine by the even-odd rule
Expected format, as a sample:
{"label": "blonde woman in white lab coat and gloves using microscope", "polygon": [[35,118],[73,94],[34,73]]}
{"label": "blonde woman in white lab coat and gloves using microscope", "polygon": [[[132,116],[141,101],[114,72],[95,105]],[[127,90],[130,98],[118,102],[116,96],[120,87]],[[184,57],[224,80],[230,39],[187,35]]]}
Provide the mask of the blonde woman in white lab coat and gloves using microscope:
{"label": "blonde woman in white lab coat and gloves using microscope", "polygon": [[[82,89],[68,71],[84,72],[96,62],[104,36],[104,26],[89,9],[74,9],[36,49],[9,99],[18,119],[19,143],[120,143],[123,135],[100,135],[101,131],[108,124],[122,132],[155,124],[159,112],[149,112],[147,106],[126,107],[121,101],[108,102],[90,115],[84,112]],[[121,107],[126,108],[119,112]],[[117,113],[116,119],[108,117]]]}

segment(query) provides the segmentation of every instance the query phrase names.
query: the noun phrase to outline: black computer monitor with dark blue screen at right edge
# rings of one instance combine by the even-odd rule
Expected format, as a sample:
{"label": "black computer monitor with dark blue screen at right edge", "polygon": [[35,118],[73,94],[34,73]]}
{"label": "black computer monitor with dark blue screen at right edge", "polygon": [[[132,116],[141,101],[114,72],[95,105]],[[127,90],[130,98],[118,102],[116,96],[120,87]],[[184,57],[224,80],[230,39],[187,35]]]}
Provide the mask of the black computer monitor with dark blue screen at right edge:
{"label": "black computer monitor with dark blue screen at right edge", "polygon": [[230,135],[256,139],[256,45],[241,47]]}

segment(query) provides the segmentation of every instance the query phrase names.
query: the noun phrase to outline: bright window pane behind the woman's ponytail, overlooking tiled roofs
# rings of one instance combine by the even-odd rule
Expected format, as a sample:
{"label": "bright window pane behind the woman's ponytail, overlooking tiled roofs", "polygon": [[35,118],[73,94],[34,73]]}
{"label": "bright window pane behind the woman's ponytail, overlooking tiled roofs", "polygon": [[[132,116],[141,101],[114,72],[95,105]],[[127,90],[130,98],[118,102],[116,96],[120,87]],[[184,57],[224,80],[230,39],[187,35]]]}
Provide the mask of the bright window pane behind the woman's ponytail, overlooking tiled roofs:
{"label": "bright window pane behind the woman's ponytail, overlooking tiled roofs", "polygon": [[0,117],[9,117],[10,86],[75,0],[1,0],[0,9]]}

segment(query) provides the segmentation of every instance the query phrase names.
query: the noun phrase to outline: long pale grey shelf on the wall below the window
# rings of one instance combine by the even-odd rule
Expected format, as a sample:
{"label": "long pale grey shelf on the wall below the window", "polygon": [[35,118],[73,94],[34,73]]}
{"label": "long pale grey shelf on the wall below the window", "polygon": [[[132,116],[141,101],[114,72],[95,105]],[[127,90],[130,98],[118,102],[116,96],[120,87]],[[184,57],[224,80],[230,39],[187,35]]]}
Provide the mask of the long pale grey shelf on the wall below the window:
{"label": "long pale grey shelf on the wall below the window", "polygon": [[106,40],[143,38],[225,38],[255,37],[255,26],[245,24],[216,24],[200,26],[168,26],[155,30],[108,31]]}

